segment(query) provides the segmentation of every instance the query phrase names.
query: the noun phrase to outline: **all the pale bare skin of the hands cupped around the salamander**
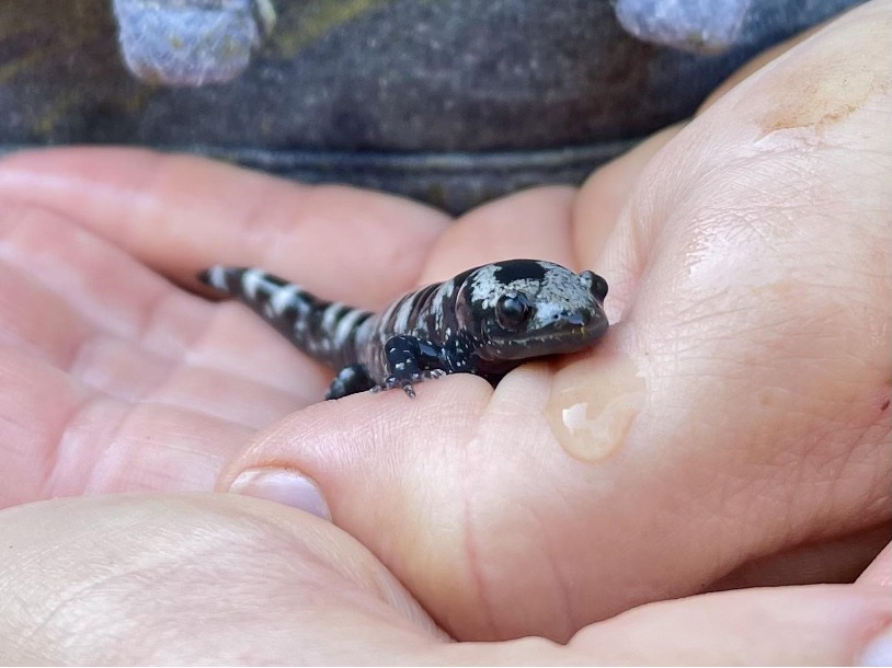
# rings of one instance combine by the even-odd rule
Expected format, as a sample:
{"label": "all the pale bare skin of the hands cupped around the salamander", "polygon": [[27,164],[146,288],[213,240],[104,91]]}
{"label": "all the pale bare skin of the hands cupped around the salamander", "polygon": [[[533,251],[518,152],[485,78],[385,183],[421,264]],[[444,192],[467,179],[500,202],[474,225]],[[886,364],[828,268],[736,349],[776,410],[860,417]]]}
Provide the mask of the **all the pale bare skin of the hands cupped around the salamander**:
{"label": "all the pale bare skin of the hands cupped around the salamander", "polygon": [[[0,163],[0,664],[859,660],[892,614],[891,42],[871,2],[454,223],[150,152]],[[329,370],[188,291],[252,264],[379,307],[519,256],[604,275],[607,338],[414,401],[319,403]]]}

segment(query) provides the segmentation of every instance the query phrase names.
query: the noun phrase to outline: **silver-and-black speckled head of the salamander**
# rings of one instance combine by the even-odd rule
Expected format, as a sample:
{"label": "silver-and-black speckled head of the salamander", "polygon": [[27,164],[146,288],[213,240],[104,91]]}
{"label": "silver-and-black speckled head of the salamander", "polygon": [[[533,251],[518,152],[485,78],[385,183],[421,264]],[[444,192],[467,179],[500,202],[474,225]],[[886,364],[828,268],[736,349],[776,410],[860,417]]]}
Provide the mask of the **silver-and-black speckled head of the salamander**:
{"label": "silver-and-black speckled head of the salamander", "polygon": [[460,290],[459,325],[483,360],[574,353],[607,331],[607,281],[592,272],[511,260],[469,272]]}

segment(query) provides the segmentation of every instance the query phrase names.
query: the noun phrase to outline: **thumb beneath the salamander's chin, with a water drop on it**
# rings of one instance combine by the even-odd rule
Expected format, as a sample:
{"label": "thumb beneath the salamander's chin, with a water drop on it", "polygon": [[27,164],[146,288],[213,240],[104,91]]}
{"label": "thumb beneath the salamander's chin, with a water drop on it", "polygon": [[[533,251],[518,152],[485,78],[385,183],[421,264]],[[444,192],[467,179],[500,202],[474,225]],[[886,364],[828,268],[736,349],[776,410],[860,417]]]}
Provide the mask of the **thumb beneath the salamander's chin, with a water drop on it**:
{"label": "thumb beneath the salamander's chin, with a water drop on it", "polygon": [[[567,641],[690,592],[740,551],[700,550],[712,520],[725,523],[691,520],[701,499],[685,493],[709,471],[661,462],[647,436],[628,440],[644,389],[621,329],[608,336],[597,358],[557,377],[527,365],[494,392],[454,376],[422,383],[415,401],[385,392],[309,406],[258,438],[219,488],[309,509],[319,503],[305,491],[320,490],[333,521],[460,640]],[[588,429],[585,410],[567,417],[583,390],[601,410]],[[590,436],[569,438],[567,419]]]}

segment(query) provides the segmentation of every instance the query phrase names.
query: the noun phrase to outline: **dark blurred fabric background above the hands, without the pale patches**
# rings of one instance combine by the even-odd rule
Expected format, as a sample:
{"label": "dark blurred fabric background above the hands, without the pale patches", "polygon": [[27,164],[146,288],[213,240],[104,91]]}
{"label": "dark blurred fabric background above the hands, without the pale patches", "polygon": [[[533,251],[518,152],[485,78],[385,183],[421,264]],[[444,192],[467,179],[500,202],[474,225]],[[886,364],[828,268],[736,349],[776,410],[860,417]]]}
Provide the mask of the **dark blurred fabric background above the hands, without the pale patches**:
{"label": "dark blurred fabric background above the hands, without the pale patches", "polygon": [[460,211],[581,181],[858,3],[755,0],[730,50],[697,55],[627,35],[607,0],[281,0],[240,77],[169,88],[125,68],[110,0],[4,0],[0,147],[186,150]]}

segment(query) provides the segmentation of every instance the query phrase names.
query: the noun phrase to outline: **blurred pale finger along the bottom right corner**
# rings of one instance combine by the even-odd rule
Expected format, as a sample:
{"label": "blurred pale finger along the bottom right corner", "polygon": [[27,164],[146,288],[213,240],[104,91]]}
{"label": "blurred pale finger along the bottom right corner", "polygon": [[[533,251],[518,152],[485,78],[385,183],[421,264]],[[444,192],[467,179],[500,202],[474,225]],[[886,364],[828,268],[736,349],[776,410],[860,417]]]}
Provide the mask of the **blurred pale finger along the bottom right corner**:
{"label": "blurred pale finger along the bottom right corner", "polygon": [[890,617],[887,597],[846,586],[746,589],[644,606],[569,647],[614,665],[848,666]]}

